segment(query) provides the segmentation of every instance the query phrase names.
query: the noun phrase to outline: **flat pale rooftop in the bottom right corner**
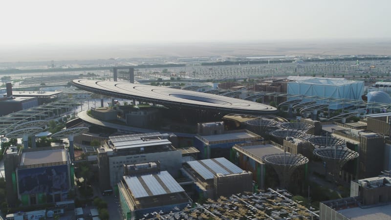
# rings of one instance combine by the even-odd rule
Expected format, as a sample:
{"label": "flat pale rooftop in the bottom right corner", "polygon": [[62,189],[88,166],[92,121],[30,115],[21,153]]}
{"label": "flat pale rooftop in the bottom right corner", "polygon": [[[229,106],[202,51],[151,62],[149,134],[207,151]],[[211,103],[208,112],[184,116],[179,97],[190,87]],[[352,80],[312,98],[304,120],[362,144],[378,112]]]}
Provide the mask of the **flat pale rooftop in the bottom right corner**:
{"label": "flat pale rooftop in the bottom right corner", "polygon": [[365,209],[362,209],[360,207],[354,207],[339,210],[338,213],[341,213],[350,220],[390,220],[391,205],[375,206]]}

